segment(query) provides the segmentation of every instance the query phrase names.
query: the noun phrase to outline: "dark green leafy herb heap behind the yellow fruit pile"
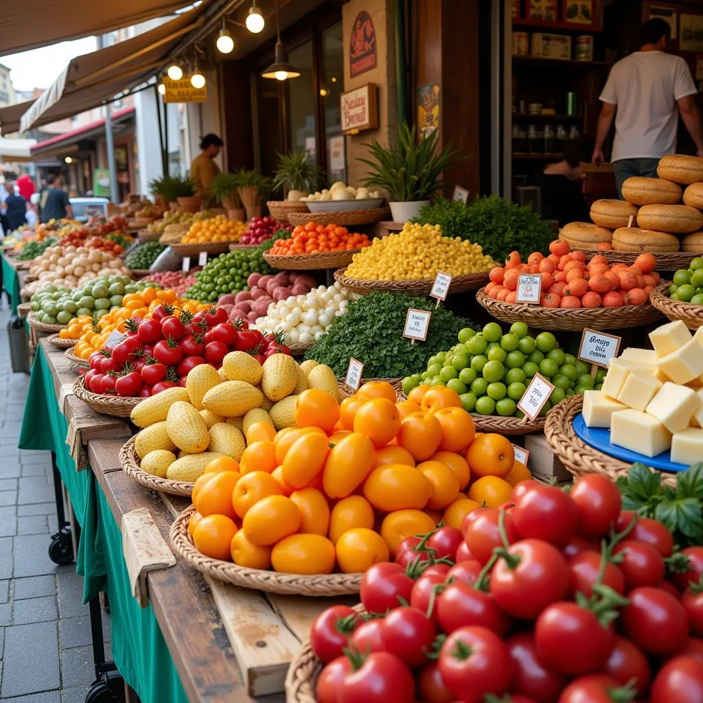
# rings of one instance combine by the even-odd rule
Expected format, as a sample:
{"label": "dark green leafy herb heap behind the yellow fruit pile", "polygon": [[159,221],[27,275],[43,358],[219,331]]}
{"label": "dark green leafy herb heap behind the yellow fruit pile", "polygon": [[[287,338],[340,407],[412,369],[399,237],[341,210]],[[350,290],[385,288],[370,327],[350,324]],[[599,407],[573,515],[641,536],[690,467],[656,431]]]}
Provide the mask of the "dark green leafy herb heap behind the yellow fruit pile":
{"label": "dark green leafy herb heap behind the yellow fruit pile", "polygon": [[439,224],[445,237],[480,244],[497,262],[505,261],[512,251],[546,253],[555,238],[548,222],[529,206],[518,207],[499,195],[476,198],[467,205],[441,199],[423,207],[413,221]]}

